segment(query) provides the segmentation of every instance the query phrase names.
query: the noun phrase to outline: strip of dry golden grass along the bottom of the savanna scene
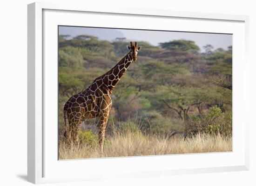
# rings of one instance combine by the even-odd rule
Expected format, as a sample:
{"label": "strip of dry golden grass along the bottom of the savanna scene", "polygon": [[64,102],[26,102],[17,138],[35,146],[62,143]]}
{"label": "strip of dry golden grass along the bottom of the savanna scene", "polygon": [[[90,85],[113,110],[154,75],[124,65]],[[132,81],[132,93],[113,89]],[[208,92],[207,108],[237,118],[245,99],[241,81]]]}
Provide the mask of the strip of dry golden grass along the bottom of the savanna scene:
{"label": "strip of dry golden grass along the bottom of the savanna scene", "polygon": [[109,136],[101,154],[98,145],[75,146],[60,142],[59,159],[83,159],[160,154],[185,154],[232,151],[232,137],[198,134],[192,138],[143,135],[141,132],[116,132]]}

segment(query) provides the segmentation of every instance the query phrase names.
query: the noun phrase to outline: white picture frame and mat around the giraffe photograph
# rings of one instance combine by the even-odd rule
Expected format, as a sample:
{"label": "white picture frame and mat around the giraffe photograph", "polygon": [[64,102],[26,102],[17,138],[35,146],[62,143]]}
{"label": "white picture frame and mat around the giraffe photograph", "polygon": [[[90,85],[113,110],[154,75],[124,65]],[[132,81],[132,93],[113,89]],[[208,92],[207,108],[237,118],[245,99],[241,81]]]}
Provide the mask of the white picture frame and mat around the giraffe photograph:
{"label": "white picture frame and mat around the giraffe photograph", "polygon": [[[233,38],[233,102],[236,103],[233,106],[233,121],[235,123],[240,122],[241,125],[235,125],[233,131],[233,151],[228,153],[210,153],[210,154],[186,154],[186,155],[161,155],[161,156],[145,156],[145,157],[125,157],[125,158],[104,158],[104,159],[92,159],[92,160],[66,160],[58,161],[55,156],[58,149],[55,145],[49,144],[49,141],[56,140],[55,135],[56,128],[45,127],[44,124],[47,121],[45,112],[47,112],[47,106],[49,105],[47,91],[56,86],[56,82],[47,87],[46,83],[56,77],[56,65],[52,68],[49,65],[44,64],[44,60],[48,57],[56,61],[57,64],[57,43],[52,45],[53,48],[51,55],[48,55],[45,45],[49,45],[47,42],[55,42],[56,38],[51,38],[51,34],[48,31],[54,32],[52,29],[56,25],[81,25],[81,20],[77,20],[78,16],[90,13],[90,16],[96,20],[102,18],[102,15],[115,19],[118,16],[123,16],[124,19],[132,16],[140,19],[155,19],[159,20],[177,20],[186,21],[189,19],[194,25],[194,22],[198,22],[199,26],[195,29],[193,27],[188,29],[188,25],[182,27],[180,25],[180,31],[200,32],[200,24],[212,25],[220,24],[216,26],[214,32],[228,32],[235,34],[236,38]],[[68,15],[68,16],[67,16]],[[99,16],[100,15],[100,16]],[[66,16],[66,17],[65,17]],[[74,17],[73,17],[74,16]],[[98,16],[98,18],[97,18]],[[108,17],[108,18],[109,18]],[[50,18],[50,19],[49,19]],[[62,19],[66,19],[63,21]],[[110,19],[110,18],[109,18]],[[75,23],[72,21],[77,20]],[[174,20],[174,24],[175,24]],[[60,22],[59,22],[60,21]],[[194,21],[194,22],[193,22]],[[146,21],[147,22],[147,21]],[[225,25],[229,23],[229,28],[225,28]],[[86,23],[83,23],[86,24]],[[104,20],[104,26],[115,27],[110,25],[111,21]],[[114,23],[113,23],[114,24]],[[176,23],[176,26],[179,26]],[[53,27],[50,27],[53,26]],[[91,25],[90,25],[91,26]],[[102,26],[102,27],[104,27]],[[187,28],[186,28],[187,26]],[[120,26],[119,26],[120,27]],[[122,27],[122,26],[121,26]],[[163,25],[162,25],[163,27]],[[227,26],[226,26],[227,27]],[[136,25],[135,25],[136,28]],[[138,27],[137,27],[138,28]],[[162,28],[159,28],[161,30]],[[210,28],[205,28],[201,32],[207,32]],[[225,29],[227,29],[225,31]],[[233,30],[232,30],[233,29]],[[55,37],[55,36],[54,36]],[[57,33],[56,33],[57,37]],[[46,39],[47,40],[44,40]],[[51,39],[49,39],[51,38]],[[239,45],[238,45],[239,43]],[[240,45],[241,44],[241,45]],[[55,48],[54,48],[55,47]],[[209,172],[223,172],[223,171],[239,171],[249,170],[249,120],[241,118],[246,117],[247,113],[239,110],[238,106],[246,106],[249,104],[249,17],[243,15],[225,15],[225,14],[213,14],[213,13],[192,13],[192,12],[174,12],[168,10],[148,10],[148,9],[135,9],[135,8],[122,8],[113,7],[112,9],[105,9],[104,7],[87,7],[84,5],[76,4],[52,4],[52,3],[32,3],[28,5],[28,181],[32,183],[51,183],[51,182],[65,182],[65,181],[80,181],[80,180],[102,180],[102,179],[114,179],[114,178],[134,178],[141,176],[157,176],[157,175],[175,175],[175,174],[188,174],[188,173],[209,173]],[[54,50],[52,50],[54,49]],[[241,66],[238,61],[244,61]],[[53,63],[54,64],[54,63]],[[240,78],[236,78],[236,77]],[[48,79],[48,80],[47,80]],[[243,86],[243,88],[241,88]],[[57,87],[56,87],[57,89]],[[57,95],[56,95],[57,96]],[[239,98],[239,99],[238,99]],[[55,99],[55,98],[54,98]],[[54,100],[53,102],[54,106]],[[47,108],[46,108],[47,107]],[[50,110],[50,108],[48,108]],[[240,112],[241,111],[241,112]],[[236,114],[236,113],[239,113]],[[236,115],[235,115],[236,114]],[[53,116],[54,117],[54,116]],[[53,118],[52,118],[53,119]],[[54,120],[53,120],[54,121]],[[53,126],[57,126],[56,122],[53,122]],[[50,130],[52,129],[52,130]],[[52,132],[51,132],[52,131]],[[47,133],[47,134],[46,134]],[[47,139],[44,138],[47,135]],[[46,153],[47,152],[47,153]],[[53,154],[53,155],[49,155]],[[187,165],[182,166],[175,164],[179,161],[179,157],[182,157],[182,162],[187,162]],[[222,160],[223,159],[223,160]],[[195,164],[191,163],[193,161]],[[208,160],[212,160],[208,162]],[[219,160],[217,163],[216,160]],[[202,163],[199,163],[202,161]],[[205,162],[206,163],[205,163]],[[150,167],[148,162],[151,162]],[[172,166],[168,163],[159,162],[172,162]],[[88,167],[89,171],[86,175],[77,174],[77,172],[68,173],[65,175],[61,170],[70,170],[77,168],[79,171],[84,164]],[[102,169],[98,171],[98,166],[105,164],[112,167],[111,170]],[[161,164],[161,165],[159,165]],[[203,165],[204,164],[204,165]],[[119,169],[118,166],[125,167],[126,170]],[[138,167],[136,167],[136,166]],[[55,167],[54,167],[55,166]],[[84,166],[84,165],[83,165]],[[162,166],[162,167],[161,167]],[[120,168],[120,167],[119,167]],[[52,171],[51,171],[52,170]],[[108,173],[109,171],[109,173]],[[66,171],[68,172],[68,171]],[[63,173],[61,176],[60,174]],[[85,173],[84,173],[85,174]]]}

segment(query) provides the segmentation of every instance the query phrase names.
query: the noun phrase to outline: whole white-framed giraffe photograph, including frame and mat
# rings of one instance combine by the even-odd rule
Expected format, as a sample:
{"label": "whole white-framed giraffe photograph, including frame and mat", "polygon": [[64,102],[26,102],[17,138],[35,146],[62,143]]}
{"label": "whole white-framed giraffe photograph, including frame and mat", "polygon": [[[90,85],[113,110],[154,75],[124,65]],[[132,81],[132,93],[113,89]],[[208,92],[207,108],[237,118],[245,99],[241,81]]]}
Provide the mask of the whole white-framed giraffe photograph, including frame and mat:
{"label": "whole white-framed giraffe photograph, including frame and mat", "polygon": [[28,181],[249,169],[249,17],[28,5]]}

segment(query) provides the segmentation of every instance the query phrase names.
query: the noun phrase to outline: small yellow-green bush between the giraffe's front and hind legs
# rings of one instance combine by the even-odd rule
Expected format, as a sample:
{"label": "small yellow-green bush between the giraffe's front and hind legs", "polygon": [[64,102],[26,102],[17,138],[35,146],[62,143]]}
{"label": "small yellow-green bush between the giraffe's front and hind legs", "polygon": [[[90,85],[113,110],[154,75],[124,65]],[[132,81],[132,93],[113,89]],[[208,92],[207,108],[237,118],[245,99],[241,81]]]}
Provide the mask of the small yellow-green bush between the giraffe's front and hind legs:
{"label": "small yellow-green bush between the giraffe's front and hind legs", "polygon": [[81,144],[86,144],[90,147],[98,144],[98,135],[95,134],[92,130],[79,131],[79,138]]}

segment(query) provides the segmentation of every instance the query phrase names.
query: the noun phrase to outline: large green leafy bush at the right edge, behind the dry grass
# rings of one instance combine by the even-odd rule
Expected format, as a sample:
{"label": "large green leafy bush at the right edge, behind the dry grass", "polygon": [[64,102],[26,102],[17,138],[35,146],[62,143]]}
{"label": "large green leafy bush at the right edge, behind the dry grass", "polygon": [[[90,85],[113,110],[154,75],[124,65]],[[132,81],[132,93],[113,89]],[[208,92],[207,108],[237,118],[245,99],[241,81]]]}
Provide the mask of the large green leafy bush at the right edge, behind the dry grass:
{"label": "large green leafy bush at the right edge, behind the dry grass", "polygon": [[219,107],[211,107],[206,115],[193,115],[185,126],[187,135],[197,133],[232,136],[232,114],[222,113]]}

